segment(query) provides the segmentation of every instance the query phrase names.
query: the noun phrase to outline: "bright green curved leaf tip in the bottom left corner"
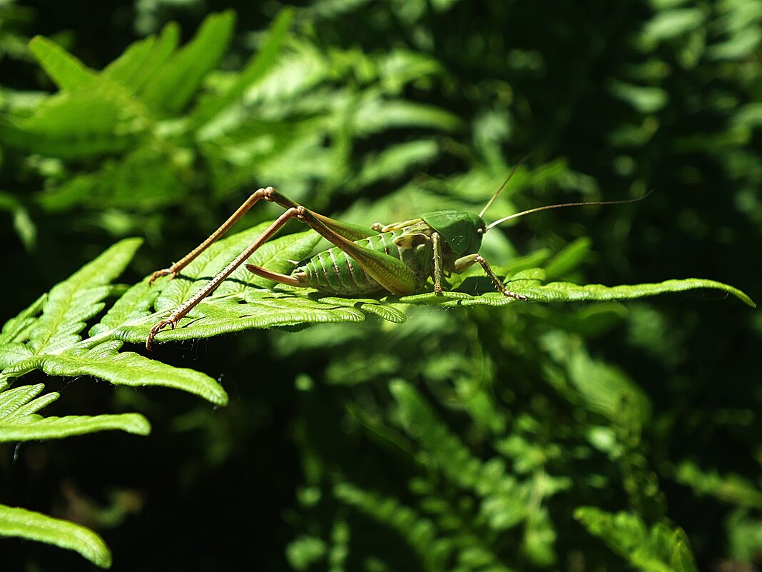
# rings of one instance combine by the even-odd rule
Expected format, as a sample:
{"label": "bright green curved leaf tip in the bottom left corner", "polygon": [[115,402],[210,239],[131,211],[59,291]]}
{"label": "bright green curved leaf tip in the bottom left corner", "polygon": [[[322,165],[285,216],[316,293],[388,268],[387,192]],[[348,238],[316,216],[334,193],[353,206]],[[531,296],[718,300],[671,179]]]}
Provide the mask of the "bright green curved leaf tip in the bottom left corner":
{"label": "bright green curved leaf tip in the bottom left corner", "polygon": [[101,568],[111,566],[111,553],[103,538],[84,526],[32,510],[0,504],[0,536],[45,542],[77,551]]}

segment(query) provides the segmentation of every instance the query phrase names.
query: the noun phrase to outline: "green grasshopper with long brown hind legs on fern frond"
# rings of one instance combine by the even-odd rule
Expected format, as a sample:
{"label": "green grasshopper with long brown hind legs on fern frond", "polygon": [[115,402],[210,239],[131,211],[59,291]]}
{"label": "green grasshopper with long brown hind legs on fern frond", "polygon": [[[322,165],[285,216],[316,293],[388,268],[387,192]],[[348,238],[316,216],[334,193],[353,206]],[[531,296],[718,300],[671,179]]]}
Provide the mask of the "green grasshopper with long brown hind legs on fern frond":
{"label": "green grasshopper with long brown hind legs on fern frond", "polygon": [[158,270],[151,275],[149,284],[162,276],[168,275],[170,279],[174,278],[201,252],[223,236],[257,201],[264,199],[286,209],[286,212],[281,214],[222,272],[178,306],[169,317],[156,323],[146,339],[146,349],[151,349],[152,342],[160,330],[166,326],[174,329],[188,312],[211,294],[220,282],[228,278],[292,218],[306,223],[312,230],[335,245],[334,248],[319,252],[306,262],[299,263],[290,275],[247,264],[246,268],[250,272],[281,284],[299,288],[315,288],[325,294],[344,297],[372,297],[389,293],[406,296],[421,291],[429,278],[434,281],[434,293],[441,294],[444,275],[450,272],[461,274],[466,268],[479,263],[498,291],[507,297],[526,300],[527,297],[507,290],[500,278],[492,272],[488,262],[479,254],[482,237],[488,230],[507,220],[536,213],[539,210],[598,204],[626,204],[640,200],[549,204],[511,214],[493,223],[485,223],[482,217],[486,210],[495,201],[519,165],[514,168],[511,175],[508,175],[479,215],[459,210],[437,210],[422,214],[415,219],[386,226],[376,223],[370,228],[325,217],[297,204],[272,187],[260,188],[251,194],[221,227],[183,259],[174,262],[170,268]]}

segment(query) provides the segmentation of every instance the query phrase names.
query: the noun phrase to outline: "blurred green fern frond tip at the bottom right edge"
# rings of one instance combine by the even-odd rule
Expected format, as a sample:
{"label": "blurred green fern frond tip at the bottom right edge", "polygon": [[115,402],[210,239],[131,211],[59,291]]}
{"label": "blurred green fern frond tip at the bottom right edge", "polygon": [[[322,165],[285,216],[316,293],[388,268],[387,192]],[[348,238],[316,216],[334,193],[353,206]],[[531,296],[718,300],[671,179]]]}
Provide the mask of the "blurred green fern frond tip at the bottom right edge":
{"label": "blurred green fern frond tip at the bottom right edge", "polygon": [[575,518],[588,532],[643,572],[696,572],[693,554],[681,529],[657,524],[650,528],[634,513],[607,513],[581,506]]}

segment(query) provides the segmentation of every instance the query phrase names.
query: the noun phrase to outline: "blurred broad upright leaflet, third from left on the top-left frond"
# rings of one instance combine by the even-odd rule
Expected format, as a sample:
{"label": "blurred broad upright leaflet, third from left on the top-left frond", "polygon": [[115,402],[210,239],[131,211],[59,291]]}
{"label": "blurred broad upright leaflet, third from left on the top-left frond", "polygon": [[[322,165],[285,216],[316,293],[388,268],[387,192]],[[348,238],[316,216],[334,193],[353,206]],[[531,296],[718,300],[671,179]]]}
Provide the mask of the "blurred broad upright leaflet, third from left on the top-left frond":
{"label": "blurred broad upright leaflet, third from left on the top-left frond", "polygon": [[193,40],[158,69],[142,91],[142,101],[159,114],[176,114],[226,52],[235,24],[235,13],[226,10],[203,21]]}

